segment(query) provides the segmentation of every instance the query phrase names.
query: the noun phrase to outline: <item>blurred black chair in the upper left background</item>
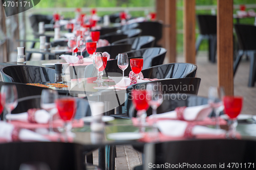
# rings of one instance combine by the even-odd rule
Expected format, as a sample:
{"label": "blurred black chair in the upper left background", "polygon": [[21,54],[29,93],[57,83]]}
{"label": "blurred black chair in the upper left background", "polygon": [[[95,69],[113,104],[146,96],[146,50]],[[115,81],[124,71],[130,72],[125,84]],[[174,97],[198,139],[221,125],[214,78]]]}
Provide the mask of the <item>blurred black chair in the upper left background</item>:
{"label": "blurred black chair in the upper left background", "polygon": [[51,15],[33,14],[29,16],[29,21],[30,21],[30,25],[32,27],[33,32],[38,32],[38,23],[39,22],[45,22],[45,24],[52,23],[53,17]]}

